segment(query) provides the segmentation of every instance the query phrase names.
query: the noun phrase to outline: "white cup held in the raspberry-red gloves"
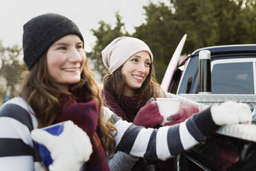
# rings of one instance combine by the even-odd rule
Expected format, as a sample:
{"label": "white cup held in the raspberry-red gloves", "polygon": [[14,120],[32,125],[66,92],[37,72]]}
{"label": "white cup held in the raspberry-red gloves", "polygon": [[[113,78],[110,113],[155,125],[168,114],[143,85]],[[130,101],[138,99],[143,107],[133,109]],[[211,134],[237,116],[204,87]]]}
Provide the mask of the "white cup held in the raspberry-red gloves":
{"label": "white cup held in the raspberry-red gloves", "polygon": [[173,99],[173,98],[156,98],[156,102],[158,103],[159,112],[164,117],[164,120],[160,123],[160,125],[164,125],[164,123],[170,122],[167,121],[167,117],[178,112],[180,107],[181,99]]}

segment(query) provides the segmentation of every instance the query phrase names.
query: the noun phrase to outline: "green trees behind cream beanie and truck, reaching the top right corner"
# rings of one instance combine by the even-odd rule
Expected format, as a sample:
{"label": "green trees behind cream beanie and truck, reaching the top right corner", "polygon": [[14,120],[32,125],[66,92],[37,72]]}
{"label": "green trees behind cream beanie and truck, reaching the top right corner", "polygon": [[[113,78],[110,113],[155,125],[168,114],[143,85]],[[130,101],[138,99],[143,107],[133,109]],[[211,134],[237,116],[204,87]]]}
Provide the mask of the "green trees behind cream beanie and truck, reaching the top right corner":
{"label": "green trees behind cream beanie and truck, reaching the top right corner", "polygon": [[[172,54],[184,34],[187,34],[183,54],[207,46],[255,43],[255,0],[170,0],[171,5],[150,3],[144,6],[146,23],[136,27],[131,36],[142,39],[153,52],[156,79],[162,80]],[[100,52],[122,32],[124,24],[116,14],[116,27],[100,21],[98,30],[92,30],[98,39],[91,57],[103,75]]]}

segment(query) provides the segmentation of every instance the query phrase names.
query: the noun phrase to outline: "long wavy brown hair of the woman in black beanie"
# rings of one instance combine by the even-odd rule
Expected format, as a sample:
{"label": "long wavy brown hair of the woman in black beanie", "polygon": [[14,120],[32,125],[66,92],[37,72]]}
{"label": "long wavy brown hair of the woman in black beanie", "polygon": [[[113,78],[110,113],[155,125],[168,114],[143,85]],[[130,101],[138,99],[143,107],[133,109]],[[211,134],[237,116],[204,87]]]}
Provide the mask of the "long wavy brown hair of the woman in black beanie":
{"label": "long wavy brown hair of the woman in black beanie", "polygon": [[81,73],[81,81],[70,86],[69,91],[64,92],[58,88],[58,84],[52,81],[47,70],[46,54],[34,64],[28,73],[21,88],[21,97],[34,110],[36,119],[39,122],[39,128],[54,123],[60,104],[58,97],[60,94],[69,94],[74,99],[84,99],[85,92],[90,92],[92,98],[98,103],[98,125],[97,133],[100,141],[105,148],[106,154],[114,153],[115,141],[111,133],[116,128],[114,125],[103,118],[103,100],[100,96],[100,90],[94,79],[93,72],[88,69],[87,60]]}

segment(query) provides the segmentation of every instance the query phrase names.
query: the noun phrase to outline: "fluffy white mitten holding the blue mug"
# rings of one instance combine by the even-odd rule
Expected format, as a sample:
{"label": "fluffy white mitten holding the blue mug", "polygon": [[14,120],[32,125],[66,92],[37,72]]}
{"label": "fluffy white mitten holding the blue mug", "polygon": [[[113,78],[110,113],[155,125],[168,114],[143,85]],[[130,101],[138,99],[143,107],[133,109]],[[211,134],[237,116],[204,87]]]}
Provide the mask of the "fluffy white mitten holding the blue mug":
{"label": "fluffy white mitten holding the blue mug", "polygon": [[92,154],[92,143],[86,132],[72,121],[65,121],[63,132],[54,136],[43,129],[31,132],[34,141],[45,145],[50,151],[53,163],[50,171],[78,171]]}

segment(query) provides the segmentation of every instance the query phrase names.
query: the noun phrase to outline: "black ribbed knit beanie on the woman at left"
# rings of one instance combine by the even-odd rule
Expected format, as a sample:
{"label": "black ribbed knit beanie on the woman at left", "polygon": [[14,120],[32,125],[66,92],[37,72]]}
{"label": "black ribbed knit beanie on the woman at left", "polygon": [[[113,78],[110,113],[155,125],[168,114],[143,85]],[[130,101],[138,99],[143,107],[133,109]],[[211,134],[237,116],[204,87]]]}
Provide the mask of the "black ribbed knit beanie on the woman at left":
{"label": "black ribbed knit beanie on the woman at left", "polygon": [[76,34],[83,41],[83,35],[76,24],[60,14],[47,13],[30,19],[23,26],[23,59],[28,70],[52,46],[68,34]]}

